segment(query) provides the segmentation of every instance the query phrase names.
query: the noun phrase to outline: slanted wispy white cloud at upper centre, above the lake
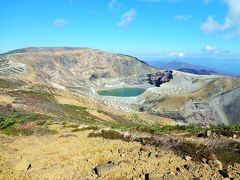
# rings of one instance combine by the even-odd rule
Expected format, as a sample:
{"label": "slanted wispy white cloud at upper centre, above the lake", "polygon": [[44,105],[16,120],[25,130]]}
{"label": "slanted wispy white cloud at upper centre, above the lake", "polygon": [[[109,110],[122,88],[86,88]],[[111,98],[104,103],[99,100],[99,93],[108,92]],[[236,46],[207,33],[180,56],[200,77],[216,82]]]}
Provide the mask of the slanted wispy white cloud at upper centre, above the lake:
{"label": "slanted wispy white cloud at upper centre, above the lake", "polygon": [[136,16],[137,16],[137,11],[136,11],[136,9],[132,8],[122,15],[122,17],[117,25],[119,27],[126,27],[132,23],[132,21],[135,19]]}

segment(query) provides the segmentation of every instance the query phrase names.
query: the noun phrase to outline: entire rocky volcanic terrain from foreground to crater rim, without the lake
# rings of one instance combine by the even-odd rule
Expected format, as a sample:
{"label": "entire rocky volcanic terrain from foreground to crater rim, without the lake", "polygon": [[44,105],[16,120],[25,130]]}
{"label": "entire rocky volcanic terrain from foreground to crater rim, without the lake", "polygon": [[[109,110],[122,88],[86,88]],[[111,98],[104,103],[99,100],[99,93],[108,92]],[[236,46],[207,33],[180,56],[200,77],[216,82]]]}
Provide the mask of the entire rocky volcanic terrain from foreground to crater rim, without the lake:
{"label": "entire rocky volcanic terrain from foreground to crater rim, without the lake", "polygon": [[[0,179],[239,179],[240,80],[126,55],[0,56]],[[98,90],[145,88],[135,97]]]}

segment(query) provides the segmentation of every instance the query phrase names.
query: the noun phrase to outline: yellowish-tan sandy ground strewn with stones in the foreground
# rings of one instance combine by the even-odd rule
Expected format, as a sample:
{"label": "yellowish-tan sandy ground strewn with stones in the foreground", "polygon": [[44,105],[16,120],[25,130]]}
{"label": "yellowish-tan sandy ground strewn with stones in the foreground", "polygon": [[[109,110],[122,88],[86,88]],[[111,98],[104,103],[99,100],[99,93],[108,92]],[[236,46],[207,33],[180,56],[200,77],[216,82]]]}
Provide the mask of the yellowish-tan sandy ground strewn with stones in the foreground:
{"label": "yellowish-tan sandy ground strewn with stones in the foreground", "polygon": [[[59,133],[18,137],[0,135],[0,179],[240,178],[239,163],[224,165],[214,154],[196,161],[195,157],[176,153],[166,143],[154,146],[136,142],[134,137],[126,141],[117,138],[116,133],[115,136],[109,134],[111,138],[102,136],[107,129],[73,131],[73,128],[63,128],[62,125],[52,125],[51,128]],[[129,133],[124,136],[129,137]],[[169,138],[164,139],[167,142]],[[209,139],[197,141],[210,142]],[[175,146],[177,148],[177,144]]]}

